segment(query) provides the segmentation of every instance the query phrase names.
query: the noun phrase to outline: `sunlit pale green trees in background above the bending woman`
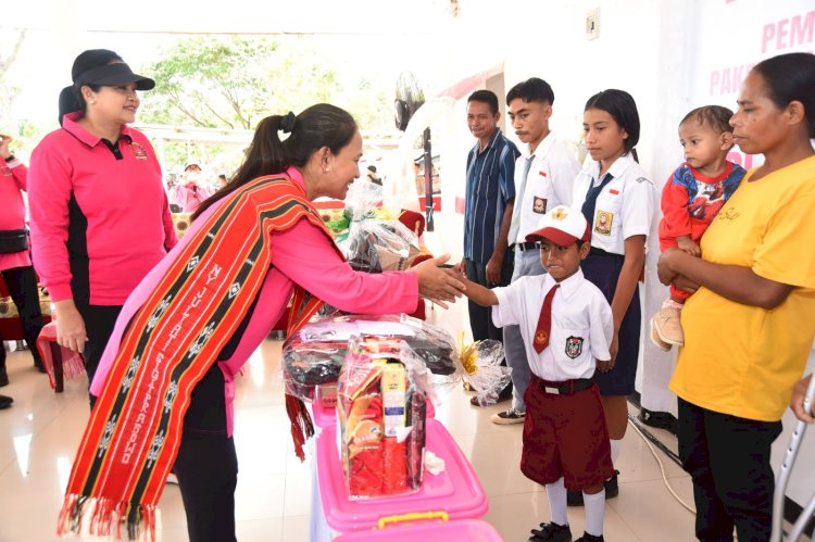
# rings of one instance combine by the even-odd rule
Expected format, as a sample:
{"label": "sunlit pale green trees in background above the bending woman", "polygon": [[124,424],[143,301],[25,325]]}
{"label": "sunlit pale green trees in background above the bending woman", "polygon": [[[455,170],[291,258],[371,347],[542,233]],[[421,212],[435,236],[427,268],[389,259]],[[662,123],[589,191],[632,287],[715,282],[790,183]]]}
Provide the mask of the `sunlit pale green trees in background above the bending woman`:
{"label": "sunlit pale green trees in background above the bending woman", "polygon": [[[391,85],[339,74],[310,36],[188,37],[143,72],[156,86],[142,97],[139,123],[252,130],[265,116],[330,102],[347,109],[363,133],[393,131]],[[164,146],[168,166],[183,167],[189,154],[185,142]],[[240,161],[215,144],[195,154],[203,162],[221,156],[224,173]]]}

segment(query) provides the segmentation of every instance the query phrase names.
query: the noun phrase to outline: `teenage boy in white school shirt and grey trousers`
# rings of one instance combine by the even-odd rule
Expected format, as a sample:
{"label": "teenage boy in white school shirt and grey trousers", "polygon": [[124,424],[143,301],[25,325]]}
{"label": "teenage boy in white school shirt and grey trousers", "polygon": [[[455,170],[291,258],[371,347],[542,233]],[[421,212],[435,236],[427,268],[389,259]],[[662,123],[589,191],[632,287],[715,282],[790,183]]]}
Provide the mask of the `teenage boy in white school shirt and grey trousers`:
{"label": "teenage boy in white school shirt and grey trousers", "polygon": [[[552,87],[538,77],[518,83],[506,94],[512,126],[528,153],[515,163],[515,205],[509,236],[509,243],[515,248],[513,282],[544,273],[538,247],[527,242],[526,236],[537,229],[547,211],[572,203],[572,182],[580,172],[575,156],[549,129],[553,103]],[[529,362],[517,326],[504,327],[503,337],[506,364],[512,369],[513,401],[509,411],[493,414],[492,421],[523,424]]]}

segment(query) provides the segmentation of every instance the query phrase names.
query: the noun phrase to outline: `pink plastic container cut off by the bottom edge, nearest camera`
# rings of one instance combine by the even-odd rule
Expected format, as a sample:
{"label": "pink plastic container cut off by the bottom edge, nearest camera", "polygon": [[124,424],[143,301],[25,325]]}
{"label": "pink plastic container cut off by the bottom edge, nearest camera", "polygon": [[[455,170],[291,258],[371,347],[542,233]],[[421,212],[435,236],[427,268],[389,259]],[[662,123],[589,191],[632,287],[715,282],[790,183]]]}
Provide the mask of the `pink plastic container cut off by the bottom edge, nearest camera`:
{"label": "pink plastic container cut off by the bottom edge, nearest camera", "polygon": [[337,542],[503,542],[494,527],[479,519],[459,519],[404,527],[389,527],[374,531],[355,531],[334,539]]}

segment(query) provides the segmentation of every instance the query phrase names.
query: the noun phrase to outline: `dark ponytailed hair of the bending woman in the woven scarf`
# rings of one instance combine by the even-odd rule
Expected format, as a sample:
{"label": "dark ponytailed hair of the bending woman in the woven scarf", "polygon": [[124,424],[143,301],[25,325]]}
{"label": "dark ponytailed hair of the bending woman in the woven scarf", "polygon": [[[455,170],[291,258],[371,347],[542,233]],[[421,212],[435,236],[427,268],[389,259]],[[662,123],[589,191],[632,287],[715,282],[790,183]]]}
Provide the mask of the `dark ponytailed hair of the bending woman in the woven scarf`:
{"label": "dark ponytailed hair of the bending woman in the woven scarf", "polygon": [[[289,134],[280,140],[280,131]],[[243,163],[217,192],[208,198],[192,214],[198,218],[210,205],[238,190],[243,185],[263,177],[284,173],[288,167],[303,167],[323,147],[333,154],[347,147],[356,134],[356,122],[344,110],[318,103],[299,115],[267,116],[258,124]]]}

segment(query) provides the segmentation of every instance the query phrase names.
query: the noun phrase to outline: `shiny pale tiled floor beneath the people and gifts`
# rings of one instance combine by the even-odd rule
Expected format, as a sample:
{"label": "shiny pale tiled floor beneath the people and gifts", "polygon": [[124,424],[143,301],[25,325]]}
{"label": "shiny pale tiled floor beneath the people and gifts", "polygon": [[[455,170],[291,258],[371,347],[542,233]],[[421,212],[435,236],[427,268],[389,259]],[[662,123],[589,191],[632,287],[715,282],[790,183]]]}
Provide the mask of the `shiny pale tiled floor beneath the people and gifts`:
{"label": "shiny pale tiled floor beneath the people and gifts", "polygon": [[[266,341],[238,382],[236,500],[242,542],[308,540],[310,469],[300,464],[290,443],[278,370],[280,344]],[[11,385],[0,393],[12,395],[14,405],[0,411],[0,542],[60,540],[57,514],[88,416],[86,382],[67,381],[65,392],[54,394],[47,378],[33,368],[27,352],[10,354],[8,367]],[[548,520],[549,505],[543,488],[518,469],[522,427],[491,424],[489,416],[499,406],[476,408],[466,395],[461,387],[442,391],[437,418],[455,437],[484,486],[489,497],[484,519],[504,540],[525,541],[530,528]],[[673,437],[663,438],[675,449]],[[676,492],[692,503],[687,475],[657,453]],[[606,540],[693,540],[693,515],[670,495],[656,461],[630,428],[617,467],[620,494],[607,503]],[[569,519],[578,537],[585,521],[582,509],[569,508]],[[160,503],[159,540],[187,540],[180,494],[174,486],[166,488]]]}

